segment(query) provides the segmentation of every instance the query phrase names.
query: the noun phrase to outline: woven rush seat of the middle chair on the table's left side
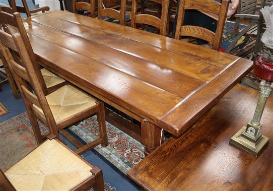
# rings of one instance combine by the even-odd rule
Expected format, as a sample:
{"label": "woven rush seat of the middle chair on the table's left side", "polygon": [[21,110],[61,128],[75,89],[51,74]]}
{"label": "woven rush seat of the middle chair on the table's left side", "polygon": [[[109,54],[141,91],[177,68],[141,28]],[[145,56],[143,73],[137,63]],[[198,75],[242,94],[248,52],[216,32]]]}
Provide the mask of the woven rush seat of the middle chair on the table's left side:
{"label": "woven rush seat of the middle chair on the table's left side", "polygon": [[[97,104],[93,97],[71,85],[65,85],[59,88],[47,95],[46,99],[57,126],[76,114],[88,110]],[[40,107],[33,105],[33,109],[43,115],[43,111]]]}

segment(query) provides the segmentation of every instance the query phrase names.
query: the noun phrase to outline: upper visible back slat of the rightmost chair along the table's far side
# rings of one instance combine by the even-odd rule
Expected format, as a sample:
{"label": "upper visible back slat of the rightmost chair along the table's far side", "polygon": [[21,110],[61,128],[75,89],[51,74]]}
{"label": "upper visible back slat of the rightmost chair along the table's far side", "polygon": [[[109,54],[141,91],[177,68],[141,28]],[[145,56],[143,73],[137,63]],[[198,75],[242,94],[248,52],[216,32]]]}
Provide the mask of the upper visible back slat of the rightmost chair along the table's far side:
{"label": "upper visible back slat of the rightmost chair along the table's far side", "polygon": [[[183,1],[183,0],[182,0]],[[185,0],[184,9],[196,9],[203,10],[207,12],[212,12],[214,14],[220,13],[221,3],[215,0]]]}

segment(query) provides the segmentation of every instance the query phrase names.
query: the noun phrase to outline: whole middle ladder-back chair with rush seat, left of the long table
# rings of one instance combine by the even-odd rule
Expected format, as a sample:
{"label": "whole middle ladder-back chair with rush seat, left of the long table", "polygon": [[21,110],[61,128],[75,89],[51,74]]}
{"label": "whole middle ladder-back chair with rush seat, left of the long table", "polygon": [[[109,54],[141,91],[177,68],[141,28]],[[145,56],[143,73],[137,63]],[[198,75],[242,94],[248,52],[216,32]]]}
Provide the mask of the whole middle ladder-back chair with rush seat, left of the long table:
{"label": "whole middle ladder-back chair with rush seat, left of the long table", "polygon": [[[14,22],[17,22],[17,25],[23,24],[18,12],[14,13],[14,18],[16,20]],[[37,123],[38,118],[52,129],[52,132],[58,139],[60,138],[58,132],[60,132],[77,147],[78,149],[75,151],[77,154],[82,154],[99,144],[106,147],[107,134],[103,102],[96,100],[72,85],[64,85],[47,94],[44,88],[45,81],[28,37],[25,36],[24,39],[24,36],[20,35],[20,38],[18,37],[15,41],[15,46],[11,35],[3,31],[0,32],[5,34],[1,35],[1,43],[9,49],[18,52],[23,62],[23,65],[16,63],[9,50],[1,45],[1,54],[11,68],[11,73],[23,97],[37,143],[43,142],[46,136],[41,134]],[[70,135],[65,128],[94,114],[97,115],[100,137],[93,142],[83,145]]]}

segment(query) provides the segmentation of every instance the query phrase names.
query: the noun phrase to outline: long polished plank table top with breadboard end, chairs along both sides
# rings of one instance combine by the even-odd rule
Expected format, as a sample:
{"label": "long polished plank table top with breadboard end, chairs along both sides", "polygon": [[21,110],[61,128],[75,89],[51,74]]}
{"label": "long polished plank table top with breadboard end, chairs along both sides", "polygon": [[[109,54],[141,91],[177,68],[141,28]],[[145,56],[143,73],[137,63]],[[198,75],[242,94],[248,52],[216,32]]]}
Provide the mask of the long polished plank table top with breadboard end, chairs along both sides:
{"label": "long polished plank table top with breadboard end, chairs along both sides", "polygon": [[66,11],[34,15],[24,25],[43,66],[174,135],[195,123],[253,64]]}

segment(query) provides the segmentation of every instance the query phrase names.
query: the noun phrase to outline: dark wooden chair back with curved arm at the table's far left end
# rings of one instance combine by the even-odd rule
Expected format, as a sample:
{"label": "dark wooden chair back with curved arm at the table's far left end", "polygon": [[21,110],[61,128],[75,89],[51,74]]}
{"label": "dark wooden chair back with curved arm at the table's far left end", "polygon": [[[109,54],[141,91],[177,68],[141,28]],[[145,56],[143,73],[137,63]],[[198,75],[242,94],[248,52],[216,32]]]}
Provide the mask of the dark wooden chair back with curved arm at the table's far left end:
{"label": "dark wooden chair back with curved arm at the table's far left end", "polygon": [[31,16],[31,13],[37,13],[39,11],[42,11],[42,12],[49,11],[48,6],[43,6],[43,7],[37,8],[37,9],[30,10],[28,8],[26,0],[22,0],[23,6],[16,5],[15,0],[8,0],[8,3],[9,3],[9,6],[12,8],[12,12],[26,13],[27,16]]}

